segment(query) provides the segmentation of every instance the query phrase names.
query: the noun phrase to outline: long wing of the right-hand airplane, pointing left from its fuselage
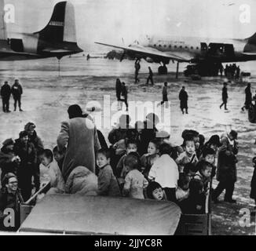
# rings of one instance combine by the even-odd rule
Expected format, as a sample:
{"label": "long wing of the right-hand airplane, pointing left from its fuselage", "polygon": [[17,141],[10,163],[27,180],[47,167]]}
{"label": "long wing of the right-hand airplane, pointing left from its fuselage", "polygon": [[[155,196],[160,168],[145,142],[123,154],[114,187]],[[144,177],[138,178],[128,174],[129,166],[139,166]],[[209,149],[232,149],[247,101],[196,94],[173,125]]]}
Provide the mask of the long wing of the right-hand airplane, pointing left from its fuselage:
{"label": "long wing of the right-hand airplane, pointing left from its fuselage", "polygon": [[151,47],[144,47],[141,45],[130,45],[130,46],[118,46],[118,45],[108,45],[102,42],[95,42],[98,45],[110,46],[117,49],[123,49],[130,53],[136,53],[137,55],[141,55],[141,57],[160,57],[165,60],[175,60],[178,62],[189,62],[192,60],[192,56],[189,53],[181,53],[178,55],[177,53],[163,53],[158,49],[153,49]]}

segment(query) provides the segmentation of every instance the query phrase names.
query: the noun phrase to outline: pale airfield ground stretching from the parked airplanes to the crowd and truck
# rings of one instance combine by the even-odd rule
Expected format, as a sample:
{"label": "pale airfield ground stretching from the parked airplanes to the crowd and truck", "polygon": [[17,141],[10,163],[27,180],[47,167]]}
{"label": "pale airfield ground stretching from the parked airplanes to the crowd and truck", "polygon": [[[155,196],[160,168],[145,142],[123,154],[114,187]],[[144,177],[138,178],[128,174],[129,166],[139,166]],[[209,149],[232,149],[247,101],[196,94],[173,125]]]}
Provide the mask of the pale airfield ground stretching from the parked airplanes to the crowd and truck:
{"label": "pale airfield ground stretching from the parked airplanes to the crowd and truck", "polygon": [[[229,112],[220,110],[221,88],[223,78],[203,78],[192,81],[180,75],[177,80],[174,74],[156,76],[155,85],[144,85],[147,73],[141,71],[141,83],[133,84],[133,63],[119,66],[118,61],[106,63],[105,60],[84,58],[64,60],[60,77],[56,71],[56,61],[41,63],[5,64],[0,70],[1,82],[5,79],[13,81],[20,78],[24,86],[24,112],[0,114],[0,142],[8,137],[16,138],[27,122],[35,122],[38,135],[44,140],[46,147],[56,144],[60,131],[60,122],[68,118],[67,108],[70,104],[79,104],[83,108],[90,100],[103,104],[103,96],[110,96],[111,104],[115,101],[115,79],[121,78],[129,86],[130,101],[155,101],[162,98],[163,82],[169,83],[169,100],[171,107],[167,119],[170,121],[170,139],[174,144],[181,144],[181,132],[184,129],[196,129],[206,136],[225,133],[236,129],[239,135],[240,152],[238,155],[238,181],[234,198],[236,205],[222,202],[213,205],[212,230],[214,235],[255,235],[255,217],[251,218],[251,227],[240,227],[240,209],[252,209],[253,201],[249,198],[250,183],[253,173],[251,159],[255,155],[255,126],[248,122],[247,112],[241,111],[244,103],[244,83],[232,82],[229,85]],[[74,64],[72,64],[72,62]],[[86,65],[87,64],[87,65]],[[129,71],[126,71],[126,67]],[[125,72],[125,73],[123,73]],[[256,89],[256,79],[251,78],[252,89]],[[189,95],[189,114],[182,115],[179,110],[178,92],[185,85]],[[13,100],[11,108],[13,110]],[[149,110],[148,110],[149,111]],[[107,118],[116,114],[115,106]],[[99,118],[99,113],[93,113]],[[103,112],[101,113],[103,116]],[[100,117],[101,117],[100,116]],[[115,122],[115,116],[112,124]],[[168,128],[167,128],[168,129]],[[101,127],[104,136],[108,136],[109,128]],[[214,186],[217,182],[214,180]]]}

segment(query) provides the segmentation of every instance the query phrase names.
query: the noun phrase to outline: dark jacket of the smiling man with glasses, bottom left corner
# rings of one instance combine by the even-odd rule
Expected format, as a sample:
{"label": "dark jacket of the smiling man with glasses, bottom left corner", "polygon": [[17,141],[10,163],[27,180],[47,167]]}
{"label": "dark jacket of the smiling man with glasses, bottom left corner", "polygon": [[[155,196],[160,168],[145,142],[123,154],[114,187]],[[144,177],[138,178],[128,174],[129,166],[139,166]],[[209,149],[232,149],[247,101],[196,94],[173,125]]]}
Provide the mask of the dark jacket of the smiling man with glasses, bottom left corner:
{"label": "dark jacket of the smiling man with glasses, bottom left corner", "polygon": [[[0,191],[0,229],[4,231],[16,231],[20,227],[20,203],[24,200],[20,195],[20,191],[16,191],[15,194],[11,194],[4,187]],[[4,226],[4,211],[5,209],[13,209],[15,213],[15,226],[5,227]]]}

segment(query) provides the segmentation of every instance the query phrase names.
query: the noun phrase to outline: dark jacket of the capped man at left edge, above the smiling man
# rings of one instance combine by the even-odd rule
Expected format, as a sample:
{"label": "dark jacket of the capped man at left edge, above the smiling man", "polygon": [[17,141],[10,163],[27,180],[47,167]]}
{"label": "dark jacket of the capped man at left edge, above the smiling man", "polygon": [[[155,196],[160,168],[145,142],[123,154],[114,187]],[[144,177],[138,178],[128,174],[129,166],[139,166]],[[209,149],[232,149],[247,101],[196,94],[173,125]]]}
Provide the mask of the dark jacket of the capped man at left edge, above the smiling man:
{"label": "dark jacket of the capped man at left edge, above the smiling man", "polygon": [[0,168],[2,169],[1,180],[6,173],[16,174],[18,163],[12,162],[14,156],[13,151],[6,151],[5,147],[2,147],[0,151]]}

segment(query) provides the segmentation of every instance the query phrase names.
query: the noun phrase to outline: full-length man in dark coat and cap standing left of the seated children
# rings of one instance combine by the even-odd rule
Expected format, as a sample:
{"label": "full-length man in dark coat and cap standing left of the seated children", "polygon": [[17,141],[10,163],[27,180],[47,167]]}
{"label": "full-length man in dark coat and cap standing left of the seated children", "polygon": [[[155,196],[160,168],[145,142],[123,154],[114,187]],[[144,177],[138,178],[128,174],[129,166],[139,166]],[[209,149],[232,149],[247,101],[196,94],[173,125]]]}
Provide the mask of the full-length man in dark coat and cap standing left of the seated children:
{"label": "full-length man in dark coat and cap standing left of the seated children", "polygon": [[15,140],[14,153],[20,157],[17,176],[21,195],[25,201],[31,197],[32,176],[34,176],[35,189],[40,187],[40,173],[37,168],[37,156],[34,144],[28,142],[28,133],[20,132],[20,137]]}

